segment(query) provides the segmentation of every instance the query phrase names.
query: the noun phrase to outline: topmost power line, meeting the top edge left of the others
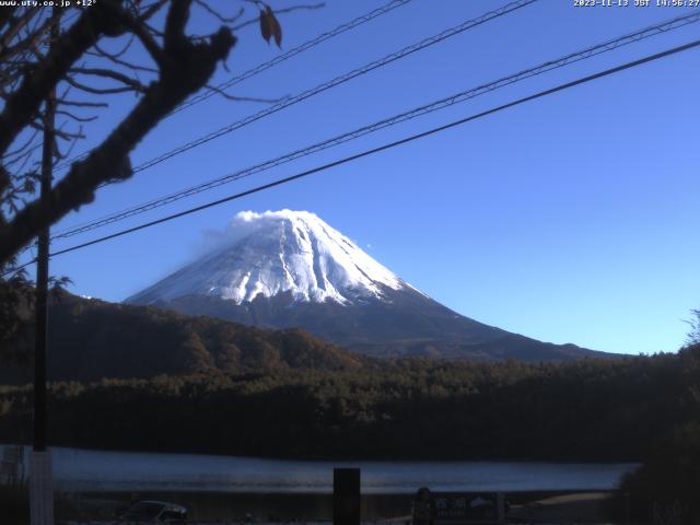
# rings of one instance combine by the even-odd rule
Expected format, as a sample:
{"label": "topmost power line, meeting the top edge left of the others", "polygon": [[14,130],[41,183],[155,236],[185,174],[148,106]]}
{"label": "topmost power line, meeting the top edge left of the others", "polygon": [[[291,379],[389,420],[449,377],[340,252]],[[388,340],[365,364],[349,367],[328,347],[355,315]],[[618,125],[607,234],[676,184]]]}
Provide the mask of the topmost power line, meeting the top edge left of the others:
{"label": "topmost power line, meeting the top edge left of the others", "polygon": [[[370,11],[369,13],[365,13],[361,16],[358,16],[357,19],[351,20],[350,22],[346,22],[345,24],[340,24],[339,26],[335,27],[334,30],[327,31],[325,33],[322,33],[320,35],[312,38],[311,40],[306,40],[304,44],[294,47],[292,49],[290,49],[287,52],[283,52],[282,55],[278,55],[277,57],[272,58],[271,60],[268,60],[267,62],[262,62],[259,63],[258,66],[248,69],[247,71],[244,71],[241,74],[237,74],[235,77],[233,77],[232,79],[228,80],[226,82],[222,82],[221,84],[217,85],[214,88],[214,91],[209,91],[207,93],[202,93],[200,95],[196,95],[185,102],[183,102],[180,105],[178,105],[175,109],[173,109],[170,115],[167,115],[168,118],[172,115],[175,115],[176,113],[182,112],[183,109],[186,109],[190,106],[194,106],[195,104],[199,104],[200,102],[203,102],[208,98],[210,98],[211,96],[215,95],[217,92],[223,91],[223,90],[228,90],[241,82],[243,82],[244,80],[247,80],[249,78],[253,78],[259,73],[261,73],[262,71],[267,71],[270,68],[273,68],[275,66],[277,66],[278,63],[281,63],[285,60],[289,60],[292,57],[295,57],[296,55],[304,52],[313,47],[318,46],[319,44],[323,44],[326,40],[329,40],[338,35],[341,35],[342,33],[346,33],[350,30],[353,30],[354,27],[358,27],[360,25],[363,25],[374,19],[376,19],[377,16],[381,16],[383,14],[386,14],[390,11],[393,11],[396,8],[400,8],[402,5],[406,5],[407,3],[411,2],[412,0],[392,0],[388,3],[385,3],[384,5],[376,8],[372,11]],[[90,155],[90,153],[92,153],[92,150],[85,151],[84,153],[81,153],[80,155],[75,155],[72,159],[69,159],[62,163],[60,163],[58,166],[56,166],[56,170],[62,170],[67,166],[70,166],[73,162],[75,161],[80,161],[82,159],[85,159],[88,155]]]}

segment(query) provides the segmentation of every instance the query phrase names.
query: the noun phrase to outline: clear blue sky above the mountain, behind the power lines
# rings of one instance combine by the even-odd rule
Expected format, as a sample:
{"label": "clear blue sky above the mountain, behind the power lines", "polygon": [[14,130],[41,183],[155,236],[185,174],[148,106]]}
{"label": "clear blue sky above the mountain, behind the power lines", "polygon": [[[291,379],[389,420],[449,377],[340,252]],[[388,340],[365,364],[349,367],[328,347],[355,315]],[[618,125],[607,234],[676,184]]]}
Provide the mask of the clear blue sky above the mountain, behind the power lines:
{"label": "clear blue sky above the mountain, behind the power lines", "polygon": [[[224,2],[220,2],[224,5]],[[272,1],[283,8],[292,1]],[[289,49],[383,1],[281,16]],[[241,83],[295,94],[506,3],[413,0]],[[687,8],[540,0],[104,188],[57,230],[657,23]],[[228,3],[230,4],[230,3]],[[203,24],[195,20],[195,26]],[[700,24],[522,82],[162,208],[61,248],[698,38]],[[215,82],[280,51],[252,26]],[[72,291],[119,301],[191,259],[241,210],[308,210],[406,281],[482,323],[611,352],[675,351],[700,307],[700,49],[499,113],[254,197],[54,259]],[[88,128],[97,141],[133,98]],[[213,97],[162,122],[137,165],[265,107]]]}

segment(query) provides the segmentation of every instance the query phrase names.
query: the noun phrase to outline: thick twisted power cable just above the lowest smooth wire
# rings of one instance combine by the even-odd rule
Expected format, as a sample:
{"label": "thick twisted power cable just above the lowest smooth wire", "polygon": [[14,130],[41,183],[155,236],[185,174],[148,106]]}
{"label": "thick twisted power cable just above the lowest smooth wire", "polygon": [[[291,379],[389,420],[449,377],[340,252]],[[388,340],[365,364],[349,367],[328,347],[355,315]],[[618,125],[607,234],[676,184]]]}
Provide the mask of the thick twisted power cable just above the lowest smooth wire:
{"label": "thick twisted power cable just above the lowest smooth wire", "polygon": [[105,226],[107,224],[112,224],[118,221],[121,221],[124,219],[140,214],[140,213],[144,213],[147,211],[151,211],[155,208],[160,208],[162,206],[166,206],[170,205],[172,202],[175,202],[177,200],[184,199],[186,197],[191,197],[194,195],[197,195],[199,192],[222,186],[224,184],[229,184],[231,182],[234,180],[238,180],[241,178],[244,177],[248,177],[250,175],[254,175],[256,173],[260,173],[267,170],[270,170],[272,167],[279,166],[281,164],[285,164],[288,162],[301,159],[303,156],[307,156],[311,155],[313,153],[317,153],[319,151],[332,148],[335,145],[339,145],[342,144],[345,142],[349,142],[351,140],[358,139],[360,137],[363,137],[365,135],[378,131],[381,129],[390,127],[390,126],[395,126],[397,124],[407,121],[407,120],[411,120],[413,118],[417,118],[419,116],[432,113],[432,112],[436,112],[439,109],[444,109],[445,107],[450,107],[453,106],[455,104],[462,103],[462,102],[466,102],[468,100],[471,100],[476,96],[489,93],[491,91],[504,88],[506,85],[552,71],[555,69],[559,69],[562,68],[564,66],[571,65],[571,63],[575,63],[578,61],[600,55],[603,52],[607,52],[607,51],[611,51],[614,49],[617,49],[619,47],[639,42],[641,39],[644,38],[649,38],[651,36],[661,34],[661,33],[666,33],[668,31],[672,30],[676,30],[679,27],[682,27],[685,25],[691,24],[691,23],[696,23],[700,21],[700,11],[697,11],[695,13],[685,15],[685,16],[677,16],[675,19],[672,19],[669,21],[663,22],[661,24],[656,24],[653,26],[649,26],[645,27],[643,30],[637,31],[634,33],[630,33],[623,36],[620,36],[618,38],[615,39],[610,39],[610,40],[606,40],[602,44],[597,44],[595,46],[588,47],[586,49],[583,49],[581,51],[578,52],[572,52],[569,55],[565,55],[563,57],[557,58],[555,60],[549,60],[547,62],[540,63],[539,66],[536,66],[534,68],[529,68],[523,71],[520,71],[517,73],[501,78],[497,81],[487,83],[487,84],[481,84],[477,88],[471,88],[465,91],[460,91],[456,94],[453,94],[448,97],[445,98],[440,98],[438,101],[434,101],[430,104],[423,105],[423,106],[419,106],[417,108],[413,108],[409,112],[405,112],[398,115],[395,115],[393,117],[373,122],[371,125],[364,126],[362,128],[358,128],[355,130],[342,133],[340,136],[334,137],[331,139],[328,140],[324,140],[322,142],[317,142],[315,144],[312,144],[310,147],[293,151],[291,153],[287,153],[284,155],[278,156],[276,159],[272,160],[268,160],[266,162],[262,162],[260,164],[256,164],[254,166],[244,168],[244,170],[240,170],[237,172],[224,175],[222,177],[218,177],[215,179],[209,180],[207,183],[190,187],[188,189],[184,189],[174,194],[171,194],[168,196],[159,198],[159,199],[154,199],[151,200],[149,202],[136,206],[136,207],[131,207],[127,210],[124,210],[121,212],[117,212],[117,213],[112,213],[107,217],[103,217],[98,220],[95,221],[91,221],[88,223],[83,223],[82,225],[78,225],[74,226],[70,230],[63,231],[62,233],[58,233],[56,234],[52,238],[57,240],[57,238],[66,238],[66,237],[71,237],[74,235],[78,235],[80,233],[84,233],[91,230],[95,230],[97,228],[102,228]]}

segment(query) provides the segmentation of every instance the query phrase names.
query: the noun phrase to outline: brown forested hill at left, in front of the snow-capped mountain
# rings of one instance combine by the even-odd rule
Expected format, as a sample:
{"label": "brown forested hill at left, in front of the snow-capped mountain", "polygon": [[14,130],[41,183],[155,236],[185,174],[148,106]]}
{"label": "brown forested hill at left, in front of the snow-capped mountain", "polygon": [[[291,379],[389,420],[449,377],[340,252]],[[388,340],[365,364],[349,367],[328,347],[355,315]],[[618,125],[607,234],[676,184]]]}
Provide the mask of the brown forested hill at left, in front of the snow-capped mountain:
{"label": "brown forested hill at left, in front of the snow-capped mountain", "polygon": [[[340,370],[368,361],[299,329],[266,330],[66,293],[52,302],[49,319],[48,371],[52,381],[212,371]],[[25,341],[27,346],[31,342]],[[28,366],[0,369],[0,383],[28,380]]]}

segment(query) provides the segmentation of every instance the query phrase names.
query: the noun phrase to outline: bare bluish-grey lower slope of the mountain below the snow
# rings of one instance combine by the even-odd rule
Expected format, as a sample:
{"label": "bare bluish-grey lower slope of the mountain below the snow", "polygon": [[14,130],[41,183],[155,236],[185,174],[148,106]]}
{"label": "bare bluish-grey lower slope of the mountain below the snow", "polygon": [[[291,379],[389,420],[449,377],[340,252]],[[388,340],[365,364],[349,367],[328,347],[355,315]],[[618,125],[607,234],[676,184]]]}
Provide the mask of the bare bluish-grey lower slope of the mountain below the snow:
{"label": "bare bluish-grey lower slope of the mountain below the snow", "polygon": [[[387,295],[389,295],[387,293]],[[208,315],[267,328],[303,327],[348,350],[375,357],[434,357],[444,359],[560,361],[605,357],[575,345],[553,345],[483,325],[440,303],[416,301],[395,293],[394,302],[363,305],[295,303],[291,298],[232,301],[188,295],[154,306],[179,313]]]}

